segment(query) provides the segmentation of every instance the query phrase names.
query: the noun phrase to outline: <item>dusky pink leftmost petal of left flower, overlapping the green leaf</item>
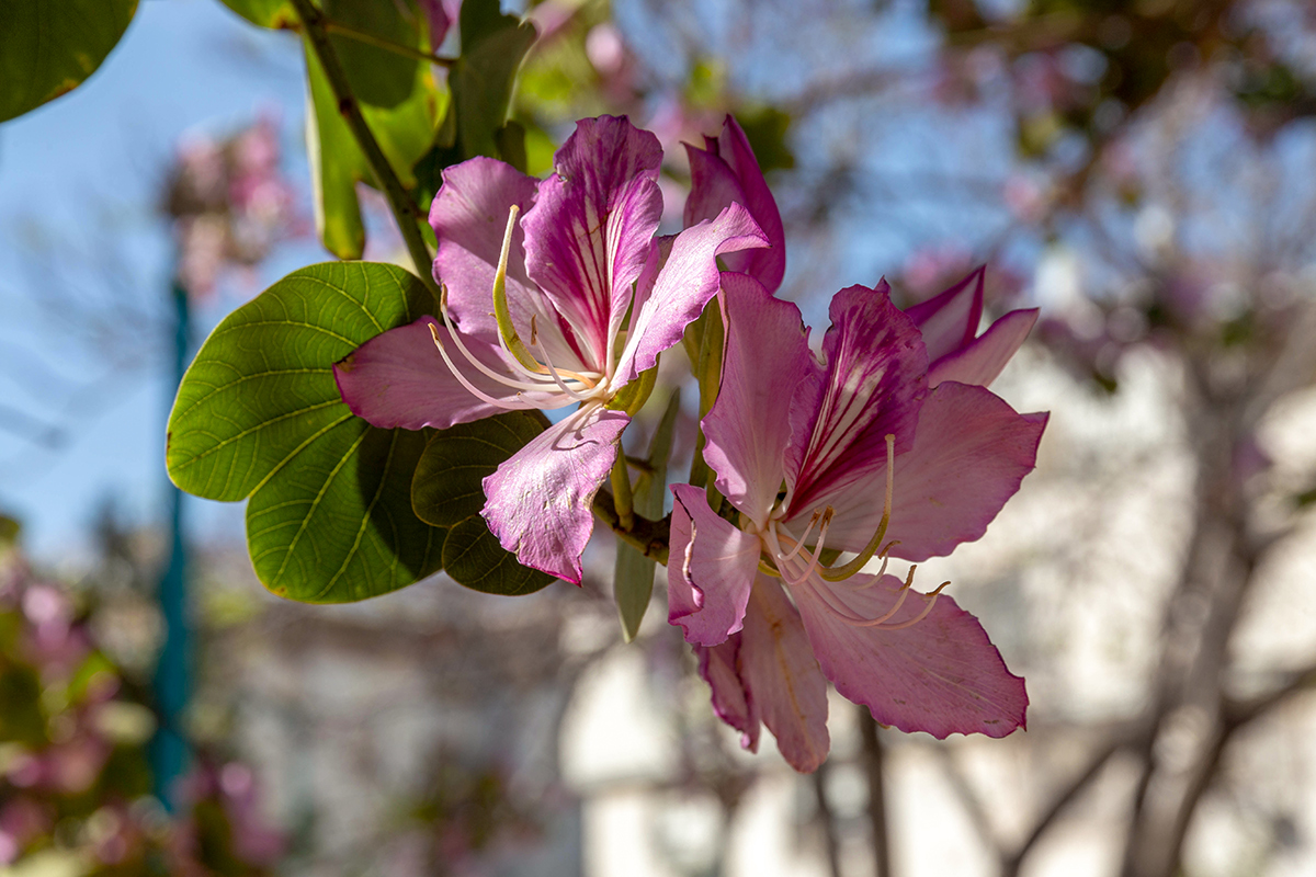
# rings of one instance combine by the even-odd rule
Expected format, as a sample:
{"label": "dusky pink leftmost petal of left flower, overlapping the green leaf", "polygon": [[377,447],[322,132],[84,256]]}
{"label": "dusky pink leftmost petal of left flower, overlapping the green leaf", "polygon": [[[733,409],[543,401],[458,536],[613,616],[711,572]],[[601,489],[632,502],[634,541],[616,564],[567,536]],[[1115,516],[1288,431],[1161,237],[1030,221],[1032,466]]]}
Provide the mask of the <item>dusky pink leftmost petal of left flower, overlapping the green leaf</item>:
{"label": "dusky pink leftmost petal of left flower, overlapping the green leaf", "polygon": [[[434,347],[430,326],[446,344],[462,376],[480,392],[513,408],[540,408],[562,398],[555,387],[545,392],[519,393],[482,375],[458,352],[442,323],[433,317],[421,317],[408,326],[371,338],[334,364],[338,393],[353,414],[380,429],[401,426],[418,430],[432,426],[442,430],[503,410],[480,401],[457,380]],[[509,379],[516,377],[505,366],[501,351],[487,339],[463,334],[462,342],[491,369]]]}

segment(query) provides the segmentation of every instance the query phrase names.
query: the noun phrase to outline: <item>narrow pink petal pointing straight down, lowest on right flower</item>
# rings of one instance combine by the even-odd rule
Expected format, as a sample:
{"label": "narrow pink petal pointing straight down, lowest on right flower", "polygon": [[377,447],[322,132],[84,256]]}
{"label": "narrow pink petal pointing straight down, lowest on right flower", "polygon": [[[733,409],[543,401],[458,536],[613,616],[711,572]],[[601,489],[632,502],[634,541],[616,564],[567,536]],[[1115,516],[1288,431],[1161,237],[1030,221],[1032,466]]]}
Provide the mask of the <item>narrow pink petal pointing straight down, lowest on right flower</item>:
{"label": "narrow pink petal pointing straight down, lowest on right flower", "polygon": [[750,705],[776,738],[782,757],[801,773],[826,759],[826,678],[800,614],[782,586],[759,576],[745,613],[738,657]]}

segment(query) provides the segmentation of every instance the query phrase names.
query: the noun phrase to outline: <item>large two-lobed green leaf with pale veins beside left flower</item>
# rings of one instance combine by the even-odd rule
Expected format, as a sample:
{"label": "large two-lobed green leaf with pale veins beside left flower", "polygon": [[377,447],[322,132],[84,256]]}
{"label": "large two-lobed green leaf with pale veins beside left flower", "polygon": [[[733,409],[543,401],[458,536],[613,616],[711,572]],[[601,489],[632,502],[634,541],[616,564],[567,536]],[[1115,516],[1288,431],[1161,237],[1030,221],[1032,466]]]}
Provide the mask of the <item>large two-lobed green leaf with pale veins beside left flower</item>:
{"label": "large two-lobed green leaf with pale veins beside left flower", "polygon": [[441,568],[443,531],[411,508],[425,435],[353,415],[333,376],[336,362],[432,308],[396,266],[311,266],[233,312],[187,369],[170,477],[211,500],[250,497],[247,547],[274,593],[363,600]]}

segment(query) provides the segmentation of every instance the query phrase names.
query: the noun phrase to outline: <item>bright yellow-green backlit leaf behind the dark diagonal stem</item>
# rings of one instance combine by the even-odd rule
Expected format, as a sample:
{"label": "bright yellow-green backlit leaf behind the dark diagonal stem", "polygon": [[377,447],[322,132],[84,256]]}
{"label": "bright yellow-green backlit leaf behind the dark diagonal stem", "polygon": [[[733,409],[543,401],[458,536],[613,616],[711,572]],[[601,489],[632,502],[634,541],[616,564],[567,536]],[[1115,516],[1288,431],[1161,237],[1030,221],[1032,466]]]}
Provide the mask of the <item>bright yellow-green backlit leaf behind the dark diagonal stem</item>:
{"label": "bright yellow-green backlit leaf behind the dark diagonal stem", "polygon": [[[375,183],[365,154],[347,122],[315,51],[305,46],[308,107],[307,153],[311,159],[316,229],[325,249],[340,259],[358,259],[366,230],[357,200],[357,183]],[[434,126],[447,108],[447,93],[434,87],[429,70],[416,64],[411,96],[391,109],[361,104],[379,149],[407,188],[416,185],[413,166],[429,151]]]}

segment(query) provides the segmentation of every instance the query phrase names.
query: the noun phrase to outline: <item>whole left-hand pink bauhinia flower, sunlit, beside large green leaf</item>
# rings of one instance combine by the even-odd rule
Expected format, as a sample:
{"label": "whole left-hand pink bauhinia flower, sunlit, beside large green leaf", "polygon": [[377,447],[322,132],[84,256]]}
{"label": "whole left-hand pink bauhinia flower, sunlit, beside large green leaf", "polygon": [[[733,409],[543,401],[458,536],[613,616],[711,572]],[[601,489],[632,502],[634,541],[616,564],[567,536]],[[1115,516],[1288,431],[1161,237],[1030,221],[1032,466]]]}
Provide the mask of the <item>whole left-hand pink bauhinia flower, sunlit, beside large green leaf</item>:
{"label": "whole left-hand pink bauhinia flower, sunlit, beside large green leaf", "polygon": [[657,238],[661,162],[653,134],[603,116],[578,122],[546,180],[487,158],[445,170],[429,214],[442,320],[334,367],[343,401],[386,429],[578,405],[484,479],[483,510],[521,563],[576,584],[630,422],[619,393],[717,293],[717,256],[767,245],[738,204]]}

